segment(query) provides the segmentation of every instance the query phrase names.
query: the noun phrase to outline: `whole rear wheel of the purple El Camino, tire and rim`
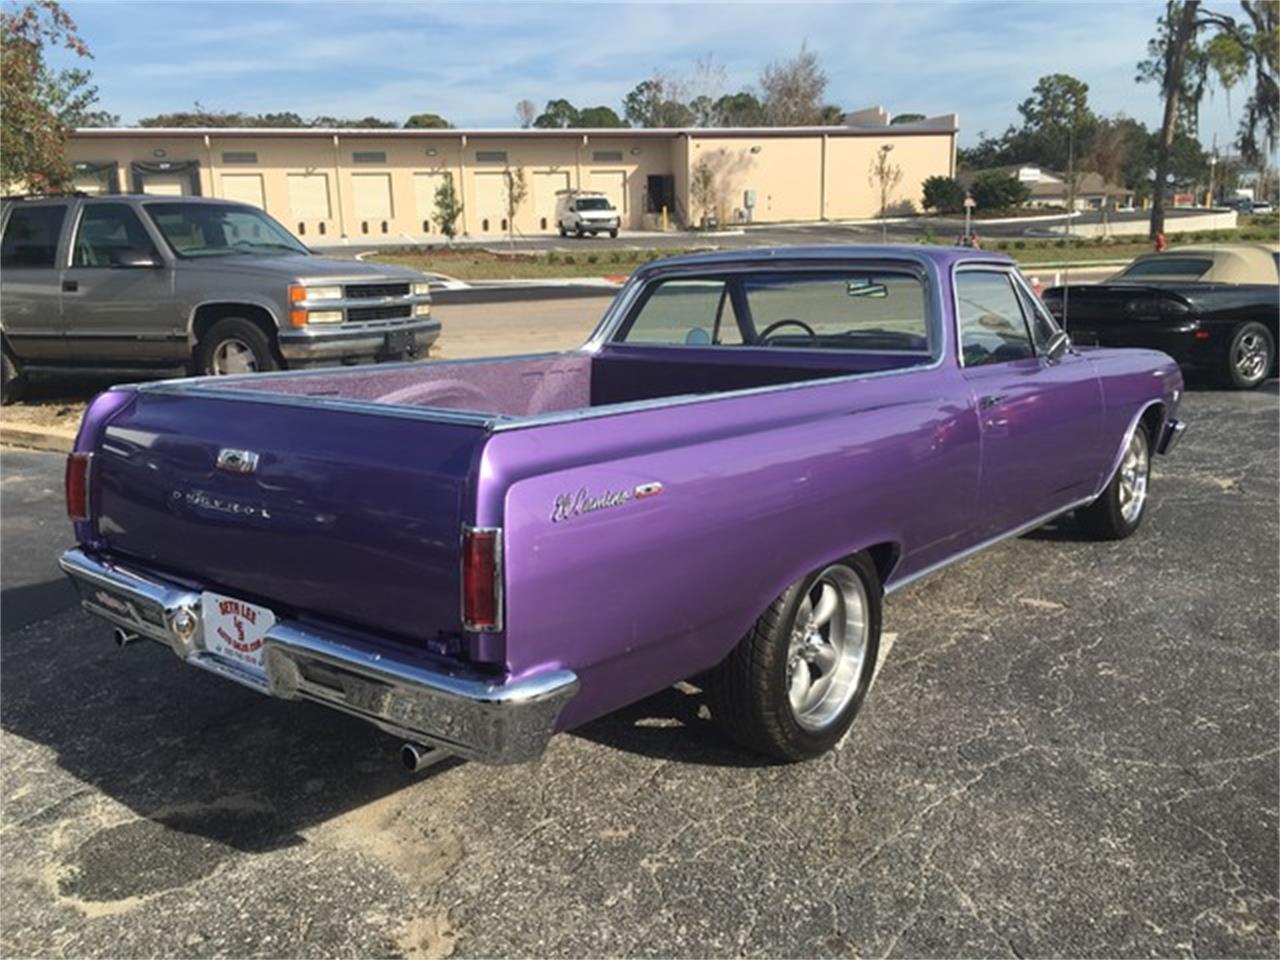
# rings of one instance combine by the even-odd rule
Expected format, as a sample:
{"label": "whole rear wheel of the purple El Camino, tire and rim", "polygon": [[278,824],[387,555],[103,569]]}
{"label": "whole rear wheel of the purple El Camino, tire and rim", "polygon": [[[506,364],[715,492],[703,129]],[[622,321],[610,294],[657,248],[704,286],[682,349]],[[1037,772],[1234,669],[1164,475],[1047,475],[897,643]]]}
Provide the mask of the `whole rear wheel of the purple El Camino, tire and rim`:
{"label": "whole rear wheel of the purple El Camino, tire and rim", "polygon": [[865,554],[796,581],[707,677],[712,717],[746,749],[806,760],[849,732],[881,632],[881,585]]}

